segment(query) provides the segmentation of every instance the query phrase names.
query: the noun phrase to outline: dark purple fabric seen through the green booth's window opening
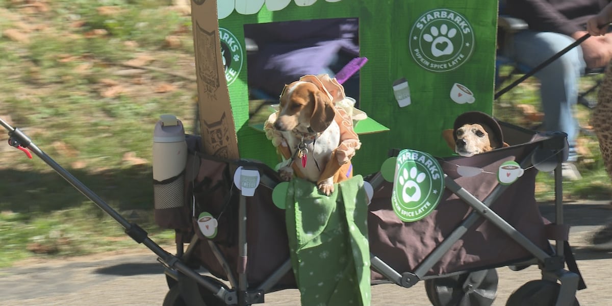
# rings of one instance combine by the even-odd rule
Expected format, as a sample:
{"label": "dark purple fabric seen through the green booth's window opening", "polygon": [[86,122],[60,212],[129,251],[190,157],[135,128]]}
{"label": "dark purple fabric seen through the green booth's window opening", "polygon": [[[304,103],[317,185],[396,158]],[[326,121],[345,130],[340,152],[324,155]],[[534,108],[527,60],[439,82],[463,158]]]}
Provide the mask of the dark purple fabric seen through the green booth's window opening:
{"label": "dark purple fabric seen through the green booth's window opening", "polygon": [[277,97],[300,76],[332,73],[339,53],[359,56],[356,18],[245,25],[258,51],[247,59],[248,85]]}

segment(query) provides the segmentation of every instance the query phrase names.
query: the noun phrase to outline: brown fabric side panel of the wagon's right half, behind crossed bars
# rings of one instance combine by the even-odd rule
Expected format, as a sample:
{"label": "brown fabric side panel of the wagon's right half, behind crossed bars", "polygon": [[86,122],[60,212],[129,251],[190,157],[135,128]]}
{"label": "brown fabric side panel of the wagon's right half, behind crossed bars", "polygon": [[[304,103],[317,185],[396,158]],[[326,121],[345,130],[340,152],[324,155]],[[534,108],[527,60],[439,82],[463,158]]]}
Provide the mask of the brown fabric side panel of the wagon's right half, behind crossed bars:
{"label": "brown fabric side panel of the wagon's right half, behind crossed bars", "polygon": [[[534,147],[535,144],[512,146],[469,158],[441,160],[441,166],[457,184],[484,201],[498,186],[499,166],[508,160],[521,159]],[[474,177],[461,177],[457,174],[458,165],[476,166],[484,171]],[[551,252],[534,198],[536,174],[535,168],[526,170],[490,208],[534,244]],[[388,182],[375,190],[368,215],[370,250],[400,273],[413,272],[472,212],[465,201],[445,190],[441,202],[430,215],[417,222],[402,222],[392,209],[391,192],[392,183]],[[506,266],[531,257],[520,244],[481,217],[427,275]],[[384,278],[376,272],[372,275],[374,280]]]}

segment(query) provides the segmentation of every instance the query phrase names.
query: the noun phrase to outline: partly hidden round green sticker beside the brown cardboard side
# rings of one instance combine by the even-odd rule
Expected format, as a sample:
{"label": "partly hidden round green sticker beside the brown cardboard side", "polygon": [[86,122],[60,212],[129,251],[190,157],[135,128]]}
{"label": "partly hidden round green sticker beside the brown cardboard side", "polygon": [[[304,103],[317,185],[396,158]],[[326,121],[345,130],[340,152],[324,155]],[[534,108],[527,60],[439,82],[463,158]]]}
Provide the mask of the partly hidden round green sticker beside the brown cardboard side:
{"label": "partly hidden round green sticker beside the brown cardboard side", "polygon": [[219,40],[221,40],[221,57],[223,60],[223,70],[225,71],[225,80],[230,86],[240,75],[242,70],[242,62],[244,62],[244,53],[240,41],[230,31],[224,28],[219,28]]}

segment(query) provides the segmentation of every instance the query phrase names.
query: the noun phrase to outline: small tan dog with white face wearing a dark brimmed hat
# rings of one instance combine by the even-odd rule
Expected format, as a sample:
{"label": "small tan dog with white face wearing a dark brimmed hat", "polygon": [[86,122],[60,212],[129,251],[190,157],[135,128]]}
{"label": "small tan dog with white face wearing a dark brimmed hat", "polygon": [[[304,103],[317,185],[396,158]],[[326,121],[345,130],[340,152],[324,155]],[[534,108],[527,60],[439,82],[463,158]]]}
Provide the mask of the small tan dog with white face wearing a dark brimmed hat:
{"label": "small tan dog with white face wearing a dark brimmed hat", "polygon": [[470,157],[507,147],[499,123],[488,114],[468,111],[455,119],[452,130],[445,130],[444,139],[455,152]]}

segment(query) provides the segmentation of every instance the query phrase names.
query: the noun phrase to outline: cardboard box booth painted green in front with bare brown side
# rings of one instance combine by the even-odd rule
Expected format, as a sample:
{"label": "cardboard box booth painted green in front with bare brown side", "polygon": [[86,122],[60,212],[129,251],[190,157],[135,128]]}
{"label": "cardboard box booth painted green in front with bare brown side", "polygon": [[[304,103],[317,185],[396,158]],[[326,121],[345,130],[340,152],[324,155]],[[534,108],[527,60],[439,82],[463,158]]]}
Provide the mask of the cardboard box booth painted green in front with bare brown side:
{"label": "cardboard box booth painted green in front with bare brown side", "polygon": [[378,171],[389,149],[451,155],[442,130],[464,111],[493,110],[497,1],[193,0],[192,15],[204,149],[212,154],[277,162],[250,121],[259,99],[249,86],[250,57],[263,50],[247,44],[252,24],[357,19],[359,56],[368,58],[358,103],[370,119],[356,127],[356,173]]}

